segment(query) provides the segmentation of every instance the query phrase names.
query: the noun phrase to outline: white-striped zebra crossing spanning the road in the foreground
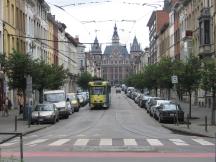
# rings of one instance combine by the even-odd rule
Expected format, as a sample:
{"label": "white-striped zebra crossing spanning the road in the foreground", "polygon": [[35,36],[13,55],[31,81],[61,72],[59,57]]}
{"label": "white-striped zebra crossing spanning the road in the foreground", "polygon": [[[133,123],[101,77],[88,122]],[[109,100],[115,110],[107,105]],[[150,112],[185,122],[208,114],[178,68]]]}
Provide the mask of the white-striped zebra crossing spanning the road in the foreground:
{"label": "white-striped zebra crossing spanning the road in the foreground", "polygon": [[[13,147],[19,145],[19,140],[14,139],[13,141],[0,144],[1,147]],[[32,141],[24,142],[24,146],[34,147],[37,145],[46,145],[49,147],[58,147],[63,145],[71,146],[155,146],[162,147],[166,145],[175,146],[215,146],[214,141],[209,141],[203,138],[191,138],[191,139],[69,139],[69,138],[59,138],[59,139],[48,139],[39,138]]]}

